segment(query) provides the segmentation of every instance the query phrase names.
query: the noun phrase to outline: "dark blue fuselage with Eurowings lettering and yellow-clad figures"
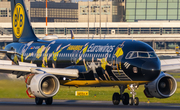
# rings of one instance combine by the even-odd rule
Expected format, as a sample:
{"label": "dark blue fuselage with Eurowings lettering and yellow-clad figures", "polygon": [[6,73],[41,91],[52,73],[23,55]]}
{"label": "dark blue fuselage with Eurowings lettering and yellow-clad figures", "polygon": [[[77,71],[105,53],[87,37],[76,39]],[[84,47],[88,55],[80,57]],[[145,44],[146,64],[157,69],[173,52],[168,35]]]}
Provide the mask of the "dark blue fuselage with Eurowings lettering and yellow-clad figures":
{"label": "dark blue fuselage with Eurowings lettering and yellow-clad figures", "polygon": [[18,64],[79,70],[76,80],[153,81],[160,74],[154,50],[136,40],[53,40],[11,43],[8,57]]}

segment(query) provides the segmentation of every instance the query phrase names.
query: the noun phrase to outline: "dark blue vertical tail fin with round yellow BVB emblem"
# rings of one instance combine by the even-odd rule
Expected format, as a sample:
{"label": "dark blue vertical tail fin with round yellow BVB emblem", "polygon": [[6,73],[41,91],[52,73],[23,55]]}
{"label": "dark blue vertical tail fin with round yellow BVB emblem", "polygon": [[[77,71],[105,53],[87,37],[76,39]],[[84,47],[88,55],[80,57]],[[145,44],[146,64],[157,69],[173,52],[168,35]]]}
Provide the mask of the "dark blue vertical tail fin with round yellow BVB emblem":
{"label": "dark blue vertical tail fin with round yellow BVB emblem", "polygon": [[24,0],[11,0],[11,18],[13,42],[37,41],[38,38],[30,24]]}

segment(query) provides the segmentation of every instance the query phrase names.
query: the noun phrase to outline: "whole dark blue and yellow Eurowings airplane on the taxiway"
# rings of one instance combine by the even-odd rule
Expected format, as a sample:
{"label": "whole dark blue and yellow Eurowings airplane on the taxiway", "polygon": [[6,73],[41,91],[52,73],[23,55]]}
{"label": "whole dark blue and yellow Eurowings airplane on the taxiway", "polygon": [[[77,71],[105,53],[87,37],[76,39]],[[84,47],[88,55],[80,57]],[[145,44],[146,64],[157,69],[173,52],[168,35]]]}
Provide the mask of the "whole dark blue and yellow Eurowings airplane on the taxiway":
{"label": "whole dark blue and yellow Eurowings airplane on the taxiway", "polygon": [[[13,42],[5,53],[11,61],[0,61],[0,71],[24,76],[26,93],[37,105],[53,102],[60,84],[75,87],[118,86],[114,105],[138,105],[135,90],[145,85],[147,97],[168,98],[177,82],[165,73],[179,62],[160,61],[153,48],[137,40],[39,39],[33,32],[23,0],[11,0]],[[12,64],[13,62],[13,64]],[[124,90],[128,88],[132,96]]]}

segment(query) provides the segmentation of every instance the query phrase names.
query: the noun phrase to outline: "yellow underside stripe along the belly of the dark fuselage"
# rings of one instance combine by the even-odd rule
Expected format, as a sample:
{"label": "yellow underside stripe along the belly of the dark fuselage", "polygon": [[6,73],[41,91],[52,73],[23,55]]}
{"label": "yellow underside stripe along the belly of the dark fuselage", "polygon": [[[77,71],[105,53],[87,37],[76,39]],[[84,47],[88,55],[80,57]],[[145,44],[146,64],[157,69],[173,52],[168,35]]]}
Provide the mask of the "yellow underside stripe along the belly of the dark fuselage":
{"label": "yellow underside stripe along the belly of the dark fuselage", "polygon": [[64,86],[115,86],[115,85],[128,85],[128,84],[146,84],[149,81],[96,81],[96,80],[73,80],[62,81],[60,84]]}

